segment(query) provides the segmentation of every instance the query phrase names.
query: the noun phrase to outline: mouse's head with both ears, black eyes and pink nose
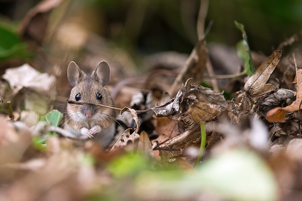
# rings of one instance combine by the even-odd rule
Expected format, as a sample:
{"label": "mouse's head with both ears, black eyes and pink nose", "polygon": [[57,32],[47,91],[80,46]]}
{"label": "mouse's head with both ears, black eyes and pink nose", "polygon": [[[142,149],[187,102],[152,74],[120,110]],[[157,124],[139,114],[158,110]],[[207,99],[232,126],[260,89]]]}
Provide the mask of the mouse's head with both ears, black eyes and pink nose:
{"label": "mouse's head with both ears, black eyes and pink nose", "polygon": [[[67,76],[73,86],[69,100],[76,102],[90,102],[112,106],[113,102],[108,90],[104,87],[110,78],[110,68],[106,61],[98,64],[91,75],[86,75],[74,61],[71,61]],[[72,111],[79,118],[98,121],[104,115],[110,115],[112,110],[96,105],[68,104],[67,110]],[[82,121],[83,121],[82,120]]]}

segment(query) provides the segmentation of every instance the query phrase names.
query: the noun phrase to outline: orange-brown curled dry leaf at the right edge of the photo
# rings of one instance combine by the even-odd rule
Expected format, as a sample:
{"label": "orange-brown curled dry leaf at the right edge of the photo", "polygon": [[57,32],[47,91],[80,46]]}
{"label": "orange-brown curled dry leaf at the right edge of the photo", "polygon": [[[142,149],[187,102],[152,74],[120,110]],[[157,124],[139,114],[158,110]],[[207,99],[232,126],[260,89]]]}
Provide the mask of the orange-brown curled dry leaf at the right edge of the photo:
{"label": "orange-brown curled dry leaf at the right edge of the photo", "polygon": [[286,112],[294,112],[300,109],[302,102],[302,69],[297,69],[297,95],[296,100],[285,108],[276,107],[266,113],[266,120],[270,122],[285,122]]}

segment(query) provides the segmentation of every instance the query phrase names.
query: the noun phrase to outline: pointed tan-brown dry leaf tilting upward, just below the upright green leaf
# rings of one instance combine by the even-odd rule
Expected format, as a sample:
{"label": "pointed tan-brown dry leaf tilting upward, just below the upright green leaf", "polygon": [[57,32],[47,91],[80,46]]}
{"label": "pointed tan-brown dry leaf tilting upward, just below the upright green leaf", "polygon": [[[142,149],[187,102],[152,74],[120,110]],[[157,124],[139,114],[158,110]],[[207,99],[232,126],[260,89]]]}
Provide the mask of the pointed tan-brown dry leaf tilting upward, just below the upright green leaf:
{"label": "pointed tan-brown dry leaf tilting upward, just below the upright green leaf", "polygon": [[243,89],[253,100],[260,98],[265,93],[275,90],[275,86],[265,83],[280,61],[280,57],[281,50],[274,51],[245,83]]}

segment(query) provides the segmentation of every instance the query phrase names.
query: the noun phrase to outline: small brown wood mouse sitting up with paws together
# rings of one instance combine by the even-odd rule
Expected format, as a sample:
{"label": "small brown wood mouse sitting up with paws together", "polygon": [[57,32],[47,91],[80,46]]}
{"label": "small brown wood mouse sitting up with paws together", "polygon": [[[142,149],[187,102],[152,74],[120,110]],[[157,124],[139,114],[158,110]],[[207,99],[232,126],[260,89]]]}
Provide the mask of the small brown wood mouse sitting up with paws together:
{"label": "small brown wood mouse sitting up with paws together", "polygon": [[[110,78],[110,68],[101,61],[91,75],[86,75],[71,61],[67,69],[69,83],[73,86],[69,100],[113,106],[105,85]],[[67,104],[65,129],[76,136],[94,137],[108,146],[115,133],[115,111],[98,105]]]}

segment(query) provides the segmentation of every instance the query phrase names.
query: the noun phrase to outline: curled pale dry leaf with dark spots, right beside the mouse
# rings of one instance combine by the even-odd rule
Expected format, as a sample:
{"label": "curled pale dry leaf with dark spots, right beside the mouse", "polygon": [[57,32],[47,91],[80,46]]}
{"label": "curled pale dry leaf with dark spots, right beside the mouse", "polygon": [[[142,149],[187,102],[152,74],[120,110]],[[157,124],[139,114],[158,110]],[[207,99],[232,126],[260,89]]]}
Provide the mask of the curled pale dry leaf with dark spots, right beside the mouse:
{"label": "curled pale dry leaf with dark spots, right beside the mouse", "polygon": [[120,115],[122,115],[125,111],[129,110],[131,112],[131,115],[136,123],[136,129],[132,134],[130,134],[131,128],[128,128],[124,131],[124,133],[120,136],[120,138],[117,140],[117,142],[114,144],[112,149],[110,151],[113,151],[114,149],[117,149],[118,147],[124,147],[128,150],[134,149],[137,147],[137,142],[139,140],[140,135],[137,134],[138,129],[140,128],[140,121],[137,117],[137,112],[134,109],[124,107],[120,111]]}

